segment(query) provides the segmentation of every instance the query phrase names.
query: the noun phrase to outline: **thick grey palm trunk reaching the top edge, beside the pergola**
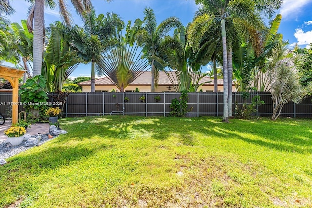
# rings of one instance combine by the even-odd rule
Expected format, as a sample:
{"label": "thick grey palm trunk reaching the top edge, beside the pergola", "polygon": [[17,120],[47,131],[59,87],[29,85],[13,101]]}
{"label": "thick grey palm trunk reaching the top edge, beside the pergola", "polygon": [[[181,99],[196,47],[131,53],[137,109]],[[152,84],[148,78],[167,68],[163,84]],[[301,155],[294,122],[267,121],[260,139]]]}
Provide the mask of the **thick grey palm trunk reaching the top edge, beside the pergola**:
{"label": "thick grey palm trunk reaching the top edge, beside the pergola", "polygon": [[34,49],[33,76],[41,75],[44,41],[44,0],[35,0],[34,5]]}

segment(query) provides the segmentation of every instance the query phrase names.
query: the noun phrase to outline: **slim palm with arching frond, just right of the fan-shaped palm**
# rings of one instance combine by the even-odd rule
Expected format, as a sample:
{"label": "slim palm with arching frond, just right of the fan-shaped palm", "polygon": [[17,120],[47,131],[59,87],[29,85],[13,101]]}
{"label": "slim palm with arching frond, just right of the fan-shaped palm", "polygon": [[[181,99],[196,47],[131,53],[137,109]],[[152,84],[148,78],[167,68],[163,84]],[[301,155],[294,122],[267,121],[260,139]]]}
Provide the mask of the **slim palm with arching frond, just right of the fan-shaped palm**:
{"label": "slim palm with arching frond, just right of the fan-shaped palm", "polygon": [[[171,42],[163,44],[165,37],[172,28],[182,26],[180,20],[176,17],[169,17],[162,21],[158,26],[153,9],[145,8],[144,10],[143,30],[137,35],[138,42],[143,47],[143,53],[148,58],[151,69],[151,92],[155,92],[158,85],[158,71],[163,69],[162,65],[153,57],[161,57],[161,52],[171,48]],[[169,39],[167,39],[168,41]]]}

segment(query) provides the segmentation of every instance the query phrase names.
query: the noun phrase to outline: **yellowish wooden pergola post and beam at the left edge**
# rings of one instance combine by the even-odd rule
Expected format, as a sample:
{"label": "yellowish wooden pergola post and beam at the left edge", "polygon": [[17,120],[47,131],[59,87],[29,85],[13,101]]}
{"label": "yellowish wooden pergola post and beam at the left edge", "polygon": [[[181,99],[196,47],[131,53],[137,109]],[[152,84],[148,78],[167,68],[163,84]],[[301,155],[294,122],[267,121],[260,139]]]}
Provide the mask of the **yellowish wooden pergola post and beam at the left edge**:
{"label": "yellowish wooden pergola post and beam at the left edge", "polygon": [[23,76],[25,70],[0,65],[0,78],[4,78],[11,83],[12,91],[12,124],[18,122],[19,114],[19,78]]}

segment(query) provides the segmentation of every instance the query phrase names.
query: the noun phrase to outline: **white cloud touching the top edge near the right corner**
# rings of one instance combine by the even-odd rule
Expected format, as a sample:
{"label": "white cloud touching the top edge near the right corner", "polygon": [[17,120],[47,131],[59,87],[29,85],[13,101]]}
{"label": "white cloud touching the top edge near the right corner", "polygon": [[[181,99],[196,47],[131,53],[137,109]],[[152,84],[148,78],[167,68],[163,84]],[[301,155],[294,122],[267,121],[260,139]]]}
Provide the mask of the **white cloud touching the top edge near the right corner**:
{"label": "white cloud touching the top edge near the right corner", "polygon": [[299,14],[301,9],[308,4],[310,0],[284,0],[280,14],[282,14],[283,19],[296,18],[294,13]]}

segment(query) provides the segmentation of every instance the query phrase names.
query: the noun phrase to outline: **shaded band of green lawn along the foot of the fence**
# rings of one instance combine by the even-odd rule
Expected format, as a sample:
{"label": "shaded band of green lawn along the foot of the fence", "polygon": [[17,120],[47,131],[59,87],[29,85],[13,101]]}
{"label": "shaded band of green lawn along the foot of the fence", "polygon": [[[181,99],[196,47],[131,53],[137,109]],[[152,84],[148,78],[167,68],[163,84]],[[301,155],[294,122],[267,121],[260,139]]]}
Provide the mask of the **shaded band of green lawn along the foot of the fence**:
{"label": "shaded band of green lawn along the foot of the fence", "polygon": [[[217,122],[217,119],[213,117],[190,119],[107,116],[103,118],[105,121],[101,122],[98,118],[86,117],[83,123],[76,124],[75,129],[88,129],[88,135],[80,132],[80,136],[83,134],[84,138],[99,136],[124,140],[146,136],[156,140],[166,140],[170,137],[177,137],[184,145],[195,145],[197,138],[194,133],[202,133],[207,137],[237,138],[279,151],[312,153],[312,140],[310,139],[312,131],[307,127],[302,127],[300,121],[297,124],[292,124],[292,121],[287,120],[285,121],[287,124],[283,125],[283,120],[274,122],[269,119],[254,121],[233,119],[230,124],[225,124]],[[79,119],[81,120],[81,118],[77,118],[77,120]],[[71,132],[70,129],[68,130]],[[244,133],[254,135],[256,139],[248,138]],[[71,135],[79,136],[79,131]]]}

